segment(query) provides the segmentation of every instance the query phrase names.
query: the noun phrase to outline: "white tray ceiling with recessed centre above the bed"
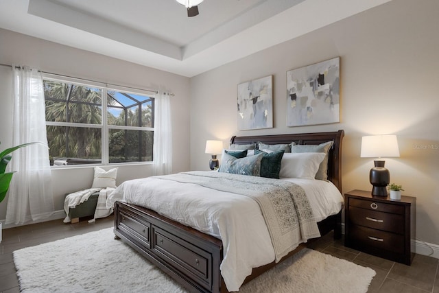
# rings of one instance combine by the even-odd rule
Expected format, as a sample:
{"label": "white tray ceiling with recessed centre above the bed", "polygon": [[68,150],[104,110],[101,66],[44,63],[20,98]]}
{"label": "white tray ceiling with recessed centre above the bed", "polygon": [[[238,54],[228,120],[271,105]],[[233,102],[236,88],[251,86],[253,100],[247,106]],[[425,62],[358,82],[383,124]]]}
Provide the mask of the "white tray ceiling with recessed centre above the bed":
{"label": "white tray ceiling with recessed centre above the bed", "polygon": [[191,77],[388,1],[1,0],[0,27]]}

